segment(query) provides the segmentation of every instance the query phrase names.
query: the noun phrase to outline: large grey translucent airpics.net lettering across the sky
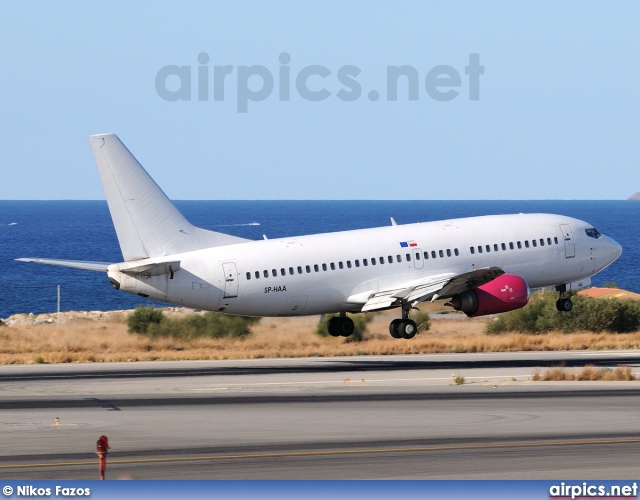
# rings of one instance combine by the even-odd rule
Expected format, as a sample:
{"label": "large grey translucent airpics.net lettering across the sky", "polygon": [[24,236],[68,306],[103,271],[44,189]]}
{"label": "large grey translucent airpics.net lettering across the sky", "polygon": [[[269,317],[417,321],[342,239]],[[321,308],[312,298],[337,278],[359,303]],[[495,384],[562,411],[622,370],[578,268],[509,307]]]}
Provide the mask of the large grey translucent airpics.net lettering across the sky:
{"label": "large grey translucent airpics.net lettering across the sky", "polygon": [[[364,93],[358,80],[362,70],[352,64],[341,66],[337,71],[319,64],[298,70],[292,68],[291,56],[287,52],[279,55],[276,71],[260,64],[211,65],[206,52],[198,54],[197,61],[195,68],[175,64],[160,68],[155,79],[157,94],[165,101],[209,101],[211,95],[214,101],[224,101],[225,96],[235,89],[237,111],[247,113],[250,102],[265,101],[274,92],[279,101],[290,101],[297,94],[310,102],[325,101],[331,97],[352,102],[362,98]],[[465,77],[461,76],[462,73]],[[462,71],[440,64],[423,74],[421,77],[416,67],[407,64],[387,66],[384,97],[387,101],[398,101],[401,94],[402,99],[418,101],[421,95],[424,96],[424,89],[426,95],[435,101],[451,101],[463,93],[470,101],[480,99],[480,76],[484,74],[484,66],[480,65],[479,54],[469,54],[469,64]],[[467,92],[464,92],[465,86]],[[366,99],[372,102],[381,97],[378,90],[366,93]]]}

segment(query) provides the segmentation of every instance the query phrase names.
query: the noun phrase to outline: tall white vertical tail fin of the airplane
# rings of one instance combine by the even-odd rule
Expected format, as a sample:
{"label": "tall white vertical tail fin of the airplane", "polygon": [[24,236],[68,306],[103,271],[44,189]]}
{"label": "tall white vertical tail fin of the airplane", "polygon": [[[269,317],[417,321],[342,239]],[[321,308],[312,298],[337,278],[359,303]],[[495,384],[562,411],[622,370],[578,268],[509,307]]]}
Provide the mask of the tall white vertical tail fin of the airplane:
{"label": "tall white vertical tail fin of the airplane", "polygon": [[191,225],[117,135],[89,141],[125,261],[249,241]]}

